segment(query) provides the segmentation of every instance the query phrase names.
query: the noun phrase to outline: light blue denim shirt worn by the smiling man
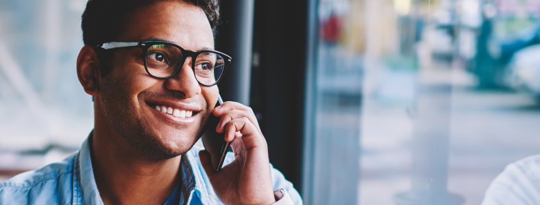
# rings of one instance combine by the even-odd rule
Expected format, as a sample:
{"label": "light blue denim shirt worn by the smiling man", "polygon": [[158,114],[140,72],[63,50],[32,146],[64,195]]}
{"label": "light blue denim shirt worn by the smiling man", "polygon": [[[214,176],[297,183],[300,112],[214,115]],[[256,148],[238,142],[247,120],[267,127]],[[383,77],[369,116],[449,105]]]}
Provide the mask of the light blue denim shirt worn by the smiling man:
{"label": "light blue denim shirt worn by the smiling man", "polygon": [[[0,183],[0,204],[103,204],[92,169],[90,145],[92,134],[83,143],[79,151],[63,161],[45,165],[40,169],[25,172]],[[193,146],[182,158],[184,171],[182,180],[192,180],[191,190],[187,190],[186,204],[223,204],[217,198],[212,184],[199,161],[199,150]],[[224,164],[234,161],[234,154],[229,153]],[[185,172],[187,171],[187,172]],[[191,172],[191,174],[189,173]],[[271,167],[273,189],[285,189],[294,204],[302,204],[302,199],[283,174]],[[193,180],[194,179],[194,180]],[[194,185],[194,186],[193,186]],[[185,192],[186,187],[182,187]],[[182,193],[180,204],[184,201]]]}

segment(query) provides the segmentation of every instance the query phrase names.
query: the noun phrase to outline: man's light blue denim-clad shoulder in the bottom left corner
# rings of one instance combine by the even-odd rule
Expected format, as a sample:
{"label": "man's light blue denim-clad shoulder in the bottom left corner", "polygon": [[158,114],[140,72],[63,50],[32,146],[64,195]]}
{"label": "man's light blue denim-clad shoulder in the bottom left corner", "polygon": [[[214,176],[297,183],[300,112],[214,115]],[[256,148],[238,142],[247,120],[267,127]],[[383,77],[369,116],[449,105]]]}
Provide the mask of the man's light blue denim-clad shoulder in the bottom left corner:
{"label": "man's light blue denim-clad shoulder in the bottom left corner", "polygon": [[[32,200],[53,202],[45,197],[58,197],[58,191],[63,187],[71,187],[73,176],[73,161],[77,152],[63,161],[45,165],[39,169],[24,172],[5,182],[0,183],[0,204],[28,204]],[[26,201],[28,200],[28,201]]]}

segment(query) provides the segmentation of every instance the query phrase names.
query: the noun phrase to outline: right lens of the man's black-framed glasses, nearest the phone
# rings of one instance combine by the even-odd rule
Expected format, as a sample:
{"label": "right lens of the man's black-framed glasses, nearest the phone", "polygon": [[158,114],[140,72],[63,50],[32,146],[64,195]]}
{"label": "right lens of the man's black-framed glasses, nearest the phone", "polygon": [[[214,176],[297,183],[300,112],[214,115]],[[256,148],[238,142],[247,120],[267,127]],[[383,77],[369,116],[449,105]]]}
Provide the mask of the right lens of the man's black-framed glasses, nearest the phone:
{"label": "right lens of the man's black-framed glasses, nearest the phone", "polygon": [[195,77],[204,85],[213,85],[223,74],[225,61],[217,53],[205,52],[197,55],[195,59]]}

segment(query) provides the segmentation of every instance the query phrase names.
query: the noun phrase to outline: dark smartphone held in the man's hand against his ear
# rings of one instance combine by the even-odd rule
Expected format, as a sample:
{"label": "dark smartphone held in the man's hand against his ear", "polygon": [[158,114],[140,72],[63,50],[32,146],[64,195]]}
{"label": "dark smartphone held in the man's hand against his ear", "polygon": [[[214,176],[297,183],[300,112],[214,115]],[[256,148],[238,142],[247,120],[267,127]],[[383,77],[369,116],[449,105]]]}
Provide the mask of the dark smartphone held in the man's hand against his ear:
{"label": "dark smartphone held in the man's hand against his ear", "polygon": [[[221,96],[219,96],[216,107],[222,103],[223,100],[221,100]],[[225,132],[216,132],[219,119],[220,118],[216,117],[214,113],[210,113],[210,116],[208,116],[208,120],[206,120],[206,124],[204,125],[205,132],[202,136],[204,149],[210,152],[210,156],[212,156],[212,167],[216,172],[221,170],[230,146],[230,142],[225,141]]]}

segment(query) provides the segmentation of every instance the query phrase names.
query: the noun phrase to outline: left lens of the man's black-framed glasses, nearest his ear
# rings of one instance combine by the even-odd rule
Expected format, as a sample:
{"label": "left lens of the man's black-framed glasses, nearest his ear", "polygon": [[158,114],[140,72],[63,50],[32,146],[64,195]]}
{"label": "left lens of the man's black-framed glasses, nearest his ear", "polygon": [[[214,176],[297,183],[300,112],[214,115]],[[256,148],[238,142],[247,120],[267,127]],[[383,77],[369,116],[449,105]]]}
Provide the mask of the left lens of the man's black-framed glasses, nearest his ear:
{"label": "left lens of the man's black-framed glasses, nearest his ear", "polygon": [[170,44],[155,44],[148,48],[146,68],[155,77],[171,76],[182,62],[182,51]]}

